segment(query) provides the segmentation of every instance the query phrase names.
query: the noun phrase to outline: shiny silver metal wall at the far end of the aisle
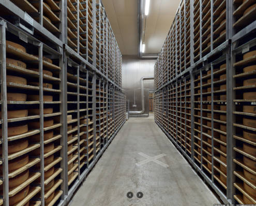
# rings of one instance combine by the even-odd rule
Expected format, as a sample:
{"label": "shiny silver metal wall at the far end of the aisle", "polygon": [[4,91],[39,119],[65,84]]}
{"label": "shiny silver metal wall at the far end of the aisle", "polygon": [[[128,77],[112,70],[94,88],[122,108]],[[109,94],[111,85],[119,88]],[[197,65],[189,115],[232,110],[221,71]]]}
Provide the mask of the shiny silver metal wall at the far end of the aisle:
{"label": "shiny silver metal wall at the far end of the aisle", "polygon": [[[141,84],[144,76],[154,76],[156,59],[139,59],[134,55],[123,55],[123,92],[129,99],[130,111],[141,111]],[[154,80],[144,80],[145,112],[148,114],[148,91],[154,91]],[[132,105],[137,107],[132,107]]]}

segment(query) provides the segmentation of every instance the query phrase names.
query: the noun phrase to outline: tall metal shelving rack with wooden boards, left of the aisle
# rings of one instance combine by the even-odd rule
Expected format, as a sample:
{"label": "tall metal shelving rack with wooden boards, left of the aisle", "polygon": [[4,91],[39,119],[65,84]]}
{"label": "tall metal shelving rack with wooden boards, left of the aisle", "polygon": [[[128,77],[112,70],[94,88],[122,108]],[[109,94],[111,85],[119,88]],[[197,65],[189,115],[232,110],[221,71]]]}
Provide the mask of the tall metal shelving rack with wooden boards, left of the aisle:
{"label": "tall metal shelving rack with wooden boards, left of the aisle", "polygon": [[[0,205],[11,205],[18,192],[27,194],[27,185],[28,194],[15,205],[28,201],[33,205],[67,205],[126,121],[122,55],[101,1],[40,0],[29,4],[1,0],[0,5]],[[27,53],[10,46],[7,40],[26,47]],[[21,63],[6,63],[6,57]],[[6,75],[25,77],[27,85],[7,82]],[[14,91],[27,94],[27,100],[7,101],[8,92]],[[38,100],[29,95],[37,95]],[[44,95],[53,100],[47,101]],[[10,108],[28,109],[28,116],[8,119]],[[48,108],[53,112],[45,113]],[[37,109],[37,114],[30,109]],[[97,111],[101,113],[101,109],[103,117],[99,118]],[[53,125],[44,127],[44,121],[52,119]],[[8,127],[24,123],[28,124],[26,133],[8,136]],[[35,123],[39,128],[32,127]],[[8,155],[8,144],[26,139],[26,149]],[[44,153],[49,145],[54,149]],[[25,166],[8,171],[8,162],[25,156],[29,158]],[[8,179],[28,168],[29,178],[22,187],[9,188]],[[44,177],[52,171],[50,177]],[[44,191],[50,183],[53,187]],[[52,198],[50,202],[48,198]]]}

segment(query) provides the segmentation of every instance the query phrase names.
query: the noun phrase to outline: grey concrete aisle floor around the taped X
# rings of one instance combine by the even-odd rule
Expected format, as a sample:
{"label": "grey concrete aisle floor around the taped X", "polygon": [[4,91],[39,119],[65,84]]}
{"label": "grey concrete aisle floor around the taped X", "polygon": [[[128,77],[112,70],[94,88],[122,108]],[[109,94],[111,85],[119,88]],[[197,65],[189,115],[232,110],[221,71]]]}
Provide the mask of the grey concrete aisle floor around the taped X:
{"label": "grey concrete aisle floor around the taped X", "polygon": [[[169,165],[156,162],[137,166],[145,157],[155,157]],[[142,192],[140,203],[137,193]],[[194,173],[187,161],[154,122],[154,114],[148,118],[130,118],[104,152],[94,170],[86,178],[70,206],[97,205],[213,205],[217,198]]]}

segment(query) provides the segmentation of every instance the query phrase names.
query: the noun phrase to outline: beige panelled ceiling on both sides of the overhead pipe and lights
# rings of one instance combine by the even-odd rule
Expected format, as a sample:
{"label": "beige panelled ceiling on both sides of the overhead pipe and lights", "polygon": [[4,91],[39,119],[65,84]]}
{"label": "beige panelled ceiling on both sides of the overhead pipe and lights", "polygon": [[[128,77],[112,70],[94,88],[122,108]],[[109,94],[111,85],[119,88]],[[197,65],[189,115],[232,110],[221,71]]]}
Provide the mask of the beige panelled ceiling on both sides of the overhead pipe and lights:
{"label": "beige panelled ceiling on both sides of the overhead pipe and lights", "polygon": [[[102,0],[122,55],[138,54],[138,1]],[[150,0],[146,28],[143,28],[144,54],[160,53],[179,3],[180,0]]]}

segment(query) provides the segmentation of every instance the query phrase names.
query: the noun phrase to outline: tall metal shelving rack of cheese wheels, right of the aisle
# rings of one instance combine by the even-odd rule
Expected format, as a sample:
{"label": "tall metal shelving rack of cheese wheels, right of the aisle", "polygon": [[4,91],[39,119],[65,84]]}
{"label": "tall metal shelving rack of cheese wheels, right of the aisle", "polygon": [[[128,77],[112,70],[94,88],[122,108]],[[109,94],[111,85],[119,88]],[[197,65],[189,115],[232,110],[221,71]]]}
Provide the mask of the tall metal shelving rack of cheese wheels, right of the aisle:
{"label": "tall metal shelving rack of cheese wheels, right of the aisle", "polygon": [[256,203],[255,20],[254,1],[183,0],[155,64],[155,122],[227,204]]}

